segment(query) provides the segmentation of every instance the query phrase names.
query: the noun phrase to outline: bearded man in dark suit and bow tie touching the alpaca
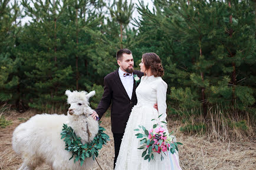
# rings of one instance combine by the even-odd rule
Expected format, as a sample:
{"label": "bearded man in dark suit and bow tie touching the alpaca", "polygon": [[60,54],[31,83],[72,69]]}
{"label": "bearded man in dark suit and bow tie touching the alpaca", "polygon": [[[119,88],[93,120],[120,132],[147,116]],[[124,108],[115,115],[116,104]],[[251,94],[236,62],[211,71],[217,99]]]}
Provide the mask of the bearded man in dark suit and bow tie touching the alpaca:
{"label": "bearded man in dark suit and bow tie touching the alpaca", "polygon": [[129,119],[130,112],[137,104],[135,90],[139,83],[134,81],[133,75],[141,78],[143,73],[135,71],[132,52],[129,49],[120,49],[116,53],[119,69],[104,77],[104,93],[98,107],[91,115],[101,118],[111,106],[111,130],[114,136],[114,166],[119,154],[124,129]]}

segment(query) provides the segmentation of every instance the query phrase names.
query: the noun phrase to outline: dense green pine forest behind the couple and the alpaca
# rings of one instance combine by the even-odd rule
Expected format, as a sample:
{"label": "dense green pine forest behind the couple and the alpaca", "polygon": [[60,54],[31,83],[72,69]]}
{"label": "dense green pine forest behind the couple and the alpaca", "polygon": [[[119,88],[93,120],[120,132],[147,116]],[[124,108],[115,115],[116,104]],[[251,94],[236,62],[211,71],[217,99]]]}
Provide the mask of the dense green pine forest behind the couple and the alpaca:
{"label": "dense green pine forest behind the couple and the alpaca", "polygon": [[[128,48],[162,59],[168,118],[187,134],[255,136],[256,1],[0,0],[0,104],[65,113],[66,89],[96,91]],[[134,9],[138,18],[132,18]],[[21,24],[21,18],[31,20]],[[4,117],[1,120],[4,120]]]}

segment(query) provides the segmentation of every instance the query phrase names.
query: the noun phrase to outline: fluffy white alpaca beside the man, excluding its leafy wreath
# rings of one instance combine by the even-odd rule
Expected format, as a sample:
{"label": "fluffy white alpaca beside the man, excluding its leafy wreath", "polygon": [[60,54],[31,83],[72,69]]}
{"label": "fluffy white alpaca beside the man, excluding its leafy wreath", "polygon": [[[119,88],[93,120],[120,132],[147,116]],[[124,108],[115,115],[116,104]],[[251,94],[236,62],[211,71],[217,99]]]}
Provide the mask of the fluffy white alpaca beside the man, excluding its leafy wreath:
{"label": "fluffy white alpaca beside the man, excluding its leafy wreath", "polygon": [[[73,159],[69,161],[72,154],[65,150],[65,142],[60,134],[63,124],[67,124],[74,129],[77,136],[81,137],[83,144],[93,141],[99,131],[99,123],[90,116],[93,110],[89,106],[88,99],[95,94],[95,91],[87,94],[84,91],[67,90],[65,94],[70,104],[67,116],[35,115],[14,130],[12,146],[24,161],[19,170],[35,169],[42,162],[50,165],[54,170],[90,169],[94,164],[92,158],[85,159],[83,166],[80,166],[80,161],[76,164]],[[87,127],[91,133],[89,139]]]}

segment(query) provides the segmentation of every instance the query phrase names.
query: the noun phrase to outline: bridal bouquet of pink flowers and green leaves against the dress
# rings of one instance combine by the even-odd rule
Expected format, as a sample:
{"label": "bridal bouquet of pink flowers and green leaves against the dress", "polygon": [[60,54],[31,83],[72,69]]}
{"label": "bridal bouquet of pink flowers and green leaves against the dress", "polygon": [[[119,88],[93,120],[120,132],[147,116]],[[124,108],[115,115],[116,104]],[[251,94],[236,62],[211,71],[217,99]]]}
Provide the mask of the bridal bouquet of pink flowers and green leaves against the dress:
{"label": "bridal bouquet of pink flowers and green leaves against the dress", "polygon": [[[152,119],[152,121],[153,120],[155,119]],[[166,124],[166,122],[163,123]],[[145,156],[145,160],[148,159],[148,161],[150,161],[154,159],[154,153],[156,152],[157,154],[161,154],[162,161],[162,153],[166,155],[166,153],[170,151],[173,154],[175,153],[175,150],[178,151],[178,145],[182,145],[180,142],[174,142],[173,138],[175,136],[171,135],[172,133],[168,135],[166,129],[160,125],[153,125],[153,128],[149,131],[147,131],[144,126],[139,126],[139,128],[142,130],[142,133],[136,134],[136,136],[137,138],[143,139],[140,140],[140,145],[142,146],[138,149],[146,149],[142,152],[142,157]],[[140,131],[140,129],[134,129],[134,131]]]}

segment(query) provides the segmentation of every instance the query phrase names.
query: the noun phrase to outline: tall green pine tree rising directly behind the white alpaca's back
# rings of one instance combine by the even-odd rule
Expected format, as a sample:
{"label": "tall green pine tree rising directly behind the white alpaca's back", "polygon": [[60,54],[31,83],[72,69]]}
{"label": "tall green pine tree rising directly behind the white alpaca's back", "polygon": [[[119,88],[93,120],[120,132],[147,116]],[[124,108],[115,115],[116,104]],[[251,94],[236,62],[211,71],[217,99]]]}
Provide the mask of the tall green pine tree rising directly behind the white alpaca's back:
{"label": "tall green pine tree rising directly behind the white alpaca's back", "polygon": [[32,18],[22,37],[29,51],[23,56],[24,65],[29,66],[25,72],[29,80],[29,106],[54,109],[64,102],[64,91],[71,86],[72,70],[64,64],[68,57],[62,44],[66,28],[61,16],[67,4],[39,0],[34,1],[34,8],[27,1],[22,1],[22,5]]}

